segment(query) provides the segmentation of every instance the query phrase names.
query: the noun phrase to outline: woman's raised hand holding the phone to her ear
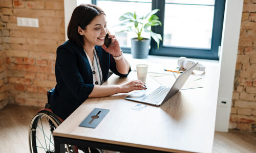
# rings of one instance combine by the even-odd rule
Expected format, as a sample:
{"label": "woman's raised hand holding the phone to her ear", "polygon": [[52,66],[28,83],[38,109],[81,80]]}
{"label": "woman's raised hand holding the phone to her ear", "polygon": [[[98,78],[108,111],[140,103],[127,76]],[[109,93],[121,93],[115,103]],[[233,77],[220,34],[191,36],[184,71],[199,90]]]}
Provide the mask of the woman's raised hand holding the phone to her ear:
{"label": "woman's raised hand holding the phone to her ear", "polygon": [[121,48],[119,46],[118,41],[116,40],[115,35],[110,35],[109,38],[112,39],[110,46],[106,48],[105,44],[103,44],[101,47],[108,52],[109,54],[113,55],[114,57],[121,55]]}

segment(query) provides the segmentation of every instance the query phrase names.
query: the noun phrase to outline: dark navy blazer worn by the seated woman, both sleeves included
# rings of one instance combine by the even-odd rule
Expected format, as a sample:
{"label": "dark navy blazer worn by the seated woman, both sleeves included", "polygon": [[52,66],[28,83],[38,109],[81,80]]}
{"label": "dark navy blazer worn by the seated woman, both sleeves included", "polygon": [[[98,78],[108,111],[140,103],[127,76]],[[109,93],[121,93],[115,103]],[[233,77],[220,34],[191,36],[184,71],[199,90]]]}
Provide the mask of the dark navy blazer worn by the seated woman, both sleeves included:
{"label": "dark navy blazer worn by the seated woman, both sleeves included", "polygon": [[[95,49],[104,82],[108,79],[109,69],[120,77],[127,77],[128,74],[117,71],[112,55],[101,46],[95,46]],[[57,85],[50,97],[51,109],[66,119],[88,98],[94,87],[92,69],[82,46],[68,40],[57,48],[55,76]]]}

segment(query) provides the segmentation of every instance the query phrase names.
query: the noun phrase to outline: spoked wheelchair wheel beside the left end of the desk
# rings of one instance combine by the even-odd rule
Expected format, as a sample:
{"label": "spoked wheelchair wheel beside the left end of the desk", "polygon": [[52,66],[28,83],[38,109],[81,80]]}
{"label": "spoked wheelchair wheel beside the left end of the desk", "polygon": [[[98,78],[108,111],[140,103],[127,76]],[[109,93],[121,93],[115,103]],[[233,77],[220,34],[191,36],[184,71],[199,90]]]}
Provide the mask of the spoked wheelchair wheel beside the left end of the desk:
{"label": "spoked wheelchair wheel beside the left end of the desk", "polygon": [[[31,153],[54,152],[53,131],[61,123],[56,115],[47,111],[39,111],[29,126],[29,146]],[[61,152],[75,153],[73,145],[62,145]]]}

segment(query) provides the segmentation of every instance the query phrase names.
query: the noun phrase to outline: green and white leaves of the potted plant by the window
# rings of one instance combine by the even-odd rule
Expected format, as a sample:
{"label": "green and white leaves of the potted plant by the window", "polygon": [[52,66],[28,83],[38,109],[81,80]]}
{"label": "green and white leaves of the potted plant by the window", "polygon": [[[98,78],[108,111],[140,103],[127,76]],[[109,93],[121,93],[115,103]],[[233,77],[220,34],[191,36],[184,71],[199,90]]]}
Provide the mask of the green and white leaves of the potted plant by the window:
{"label": "green and white leaves of the potted plant by the window", "polygon": [[146,33],[150,33],[151,37],[157,42],[157,47],[159,48],[160,40],[162,37],[160,34],[152,32],[152,30],[148,30],[151,26],[162,25],[161,21],[159,21],[159,17],[155,15],[159,9],[152,10],[145,17],[139,17],[136,12],[124,13],[119,17],[119,20],[122,21],[118,26],[123,28],[120,32],[135,32],[137,34],[138,41],[142,41],[144,38],[141,36],[141,33],[144,31]]}

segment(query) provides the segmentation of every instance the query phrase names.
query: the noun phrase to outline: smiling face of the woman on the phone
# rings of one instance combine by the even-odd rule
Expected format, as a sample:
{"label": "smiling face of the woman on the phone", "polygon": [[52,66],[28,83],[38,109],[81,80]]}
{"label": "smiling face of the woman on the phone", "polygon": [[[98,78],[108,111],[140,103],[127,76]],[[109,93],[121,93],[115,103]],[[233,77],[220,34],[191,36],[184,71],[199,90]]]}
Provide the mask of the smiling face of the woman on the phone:
{"label": "smiling face of the woman on the phone", "polygon": [[104,38],[107,32],[108,29],[106,28],[106,17],[105,15],[101,14],[96,16],[91,23],[87,25],[86,30],[83,30],[83,33],[80,33],[80,35],[84,36],[86,45],[101,46],[104,44]]}

